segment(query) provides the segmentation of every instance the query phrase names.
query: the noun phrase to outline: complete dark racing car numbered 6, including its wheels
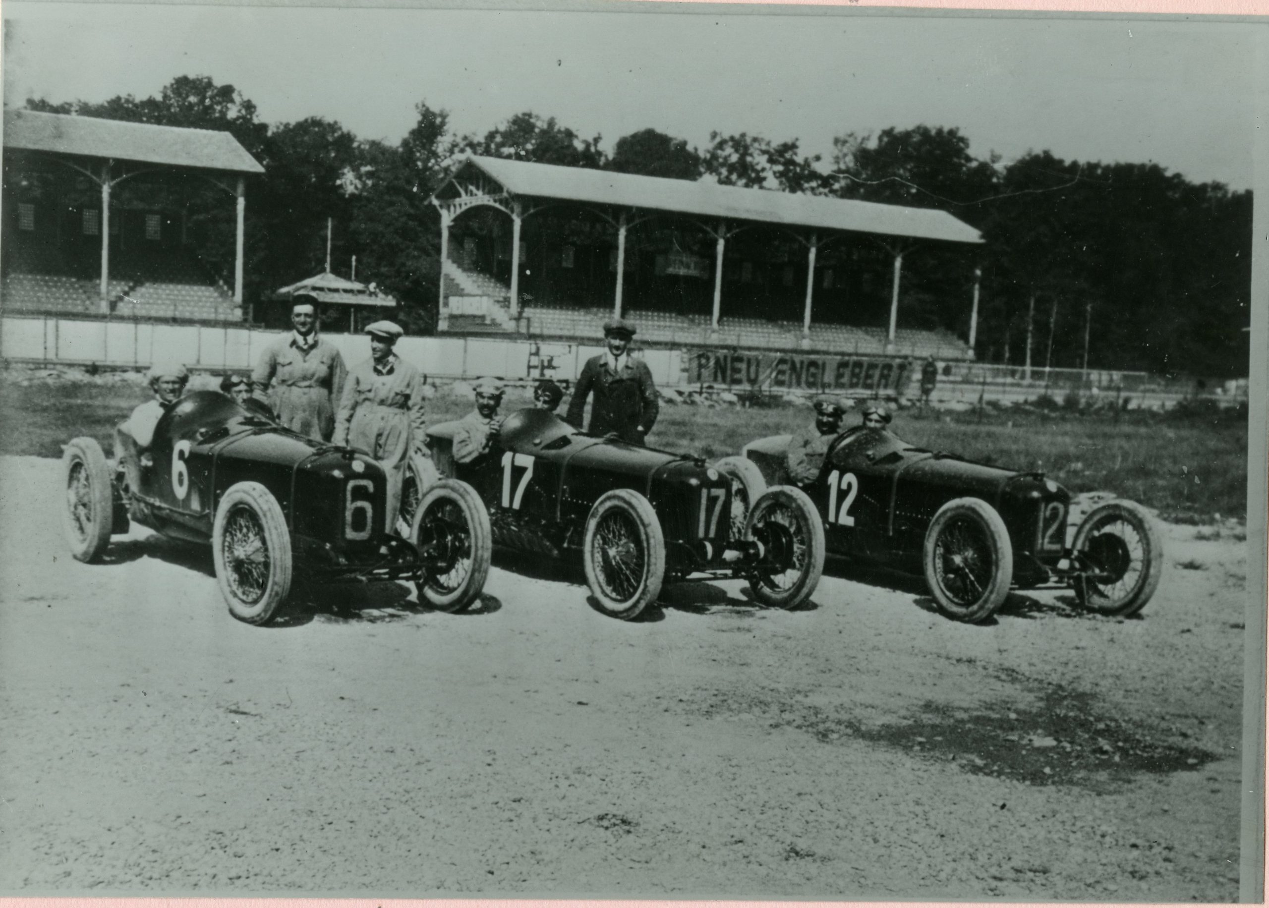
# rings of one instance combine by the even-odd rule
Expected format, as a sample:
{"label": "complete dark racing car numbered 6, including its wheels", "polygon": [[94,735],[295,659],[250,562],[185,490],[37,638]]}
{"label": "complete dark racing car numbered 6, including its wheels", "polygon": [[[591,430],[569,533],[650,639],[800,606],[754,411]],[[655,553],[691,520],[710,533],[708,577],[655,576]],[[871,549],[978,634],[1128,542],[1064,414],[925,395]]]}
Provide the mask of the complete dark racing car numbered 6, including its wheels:
{"label": "complete dark racing car numbered 6, including its wheels", "polygon": [[62,455],[63,529],[91,562],[129,522],[211,543],[230,613],[264,624],[302,568],[306,581],[411,580],[433,607],[471,605],[489,572],[489,514],[462,482],[414,502],[407,538],[387,533],[383,468],[349,448],[315,441],[214,391],[185,394],[143,451],[118,434],[117,464],[91,438]]}

